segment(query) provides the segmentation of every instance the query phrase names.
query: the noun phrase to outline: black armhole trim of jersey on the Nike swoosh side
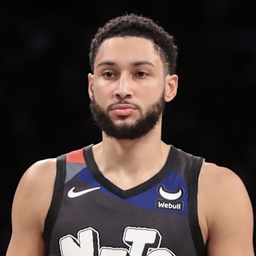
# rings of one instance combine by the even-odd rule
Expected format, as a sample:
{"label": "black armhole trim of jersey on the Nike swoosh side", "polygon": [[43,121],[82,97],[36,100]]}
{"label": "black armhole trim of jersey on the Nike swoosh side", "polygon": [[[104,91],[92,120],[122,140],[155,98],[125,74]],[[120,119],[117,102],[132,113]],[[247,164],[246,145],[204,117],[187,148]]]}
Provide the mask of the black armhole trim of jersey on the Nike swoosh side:
{"label": "black armhole trim of jersey on the Nike swoosh side", "polygon": [[53,188],[53,198],[50,203],[48,213],[46,215],[46,222],[43,233],[43,237],[46,244],[46,255],[48,255],[51,233],[53,231],[53,226],[55,224],[55,220],[57,218],[58,211],[60,208],[60,203],[62,201],[66,173],[65,159],[65,154],[58,156],[56,159],[56,176]]}

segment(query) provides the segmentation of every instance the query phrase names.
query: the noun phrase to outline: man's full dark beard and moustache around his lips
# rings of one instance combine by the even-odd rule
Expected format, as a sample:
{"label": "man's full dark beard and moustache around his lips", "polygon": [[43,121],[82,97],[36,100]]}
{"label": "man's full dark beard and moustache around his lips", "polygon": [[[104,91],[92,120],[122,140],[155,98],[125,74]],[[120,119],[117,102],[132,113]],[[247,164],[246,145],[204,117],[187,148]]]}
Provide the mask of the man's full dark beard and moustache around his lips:
{"label": "man's full dark beard and moustache around his lips", "polygon": [[140,137],[148,134],[149,131],[151,131],[151,129],[153,129],[159,122],[162,114],[164,114],[164,92],[157,102],[148,107],[144,114],[142,113],[142,108],[139,107],[139,105],[132,104],[127,100],[119,100],[118,102],[114,103],[114,105],[117,104],[133,105],[137,111],[139,111],[140,117],[132,124],[114,124],[110,118],[110,115],[107,114],[108,110],[110,110],[113,105],[107,107],[107,111],[105,111],[93,99],[90,102],[90,111],[97,126],[101,129],[102,132],[105,132],[107,137],[129,140],[139,139]]}

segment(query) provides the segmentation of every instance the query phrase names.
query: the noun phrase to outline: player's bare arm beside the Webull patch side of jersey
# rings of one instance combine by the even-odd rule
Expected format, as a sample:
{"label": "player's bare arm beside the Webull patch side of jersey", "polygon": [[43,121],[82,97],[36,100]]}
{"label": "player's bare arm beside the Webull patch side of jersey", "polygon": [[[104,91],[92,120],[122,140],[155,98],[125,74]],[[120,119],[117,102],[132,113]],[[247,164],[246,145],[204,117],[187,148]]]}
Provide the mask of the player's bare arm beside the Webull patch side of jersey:
{"label": "player's bare arm beside the Webull patch side of jersey", "polygon": [[205,164],[199,179],[209,256],[254,256],[253,213],[242,180],[233,171]]}

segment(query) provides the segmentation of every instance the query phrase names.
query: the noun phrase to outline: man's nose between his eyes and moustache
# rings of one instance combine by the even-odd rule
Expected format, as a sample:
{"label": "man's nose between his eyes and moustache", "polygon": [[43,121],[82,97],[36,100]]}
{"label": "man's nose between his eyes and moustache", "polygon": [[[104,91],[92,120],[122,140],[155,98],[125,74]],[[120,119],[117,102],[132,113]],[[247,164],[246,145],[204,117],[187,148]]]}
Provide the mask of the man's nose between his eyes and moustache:
{"label": "man's nose between his eyes and moustache", "polygon": [[132,97],[132,78],[129,75],[120,75],[117,80],[117,87],[114,90],[114,96],[117,99],[130,99]]}

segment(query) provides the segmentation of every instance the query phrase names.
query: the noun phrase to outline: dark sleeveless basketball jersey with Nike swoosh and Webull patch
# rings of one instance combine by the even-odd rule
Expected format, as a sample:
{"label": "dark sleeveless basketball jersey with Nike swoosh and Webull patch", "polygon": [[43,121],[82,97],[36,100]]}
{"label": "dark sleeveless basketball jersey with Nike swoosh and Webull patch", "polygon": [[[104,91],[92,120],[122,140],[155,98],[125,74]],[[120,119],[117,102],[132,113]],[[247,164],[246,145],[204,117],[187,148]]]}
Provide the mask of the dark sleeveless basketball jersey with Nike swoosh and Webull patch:
{"label": "dark sleeveless basketball jersey with Nike swoosh and Webull patch", "polygon": [[92,145],[58,156],[46,255],[206,255],[197,214],[203,161],[171,145],[158,174],[124,191],[101,174]]}

